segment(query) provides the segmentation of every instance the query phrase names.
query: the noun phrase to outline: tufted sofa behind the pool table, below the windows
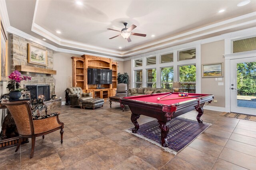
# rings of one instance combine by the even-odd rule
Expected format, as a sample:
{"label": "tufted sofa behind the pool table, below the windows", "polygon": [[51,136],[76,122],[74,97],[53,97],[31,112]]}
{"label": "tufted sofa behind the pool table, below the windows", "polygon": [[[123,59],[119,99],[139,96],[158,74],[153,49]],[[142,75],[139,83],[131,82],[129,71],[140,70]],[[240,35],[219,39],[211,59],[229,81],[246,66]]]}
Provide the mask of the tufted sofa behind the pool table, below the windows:
{"label": "tufted sofa behind the pool table, below the windows", "polygon": [[129,88],[128,92],[131,96],[138,96],[138,95],[144,95],[144,94],[172,92],[172,89],[167,89],[167,88]]}

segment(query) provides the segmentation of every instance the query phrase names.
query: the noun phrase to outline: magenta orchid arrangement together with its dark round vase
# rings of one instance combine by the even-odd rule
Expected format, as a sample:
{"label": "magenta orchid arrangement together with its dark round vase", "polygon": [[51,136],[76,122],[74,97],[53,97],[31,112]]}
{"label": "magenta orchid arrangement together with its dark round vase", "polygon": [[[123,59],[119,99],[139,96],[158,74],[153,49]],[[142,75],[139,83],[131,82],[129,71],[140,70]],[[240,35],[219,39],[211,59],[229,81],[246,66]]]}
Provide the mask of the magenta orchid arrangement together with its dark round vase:
{"label": "magenta orchid arrangement together with its dark round vase", "polygon": [[21,97],[21,91],[24,90],[20,88],[20,82],[22,80],[31,80],[29,76],[21,76],[20,72],[15,70],[8,76],[11,80],[6,88],[9,90],[9,96],[11,99],[16,100]]}

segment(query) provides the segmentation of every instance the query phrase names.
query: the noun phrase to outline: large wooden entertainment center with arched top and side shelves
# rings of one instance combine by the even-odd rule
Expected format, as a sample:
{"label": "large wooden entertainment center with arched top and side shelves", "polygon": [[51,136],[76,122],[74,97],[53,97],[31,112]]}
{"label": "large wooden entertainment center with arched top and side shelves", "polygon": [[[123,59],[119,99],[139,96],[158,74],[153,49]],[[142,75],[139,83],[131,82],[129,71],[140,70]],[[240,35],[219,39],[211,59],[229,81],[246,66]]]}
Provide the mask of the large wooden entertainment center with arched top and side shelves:
{"label": "large wooden entertainment center with arched top and side shelves", "polygon": [[[116,95],[117,62],[92,55],[82,55],[82,58],[71,57],[71,59],[73,87],[81,87],[83,92],[92,93],[93,98],[107,99],[109,96]],[[97,88],[97,84],[88,84],[88,68],[112,70],[112,84],[101,84],[100,89]]]}

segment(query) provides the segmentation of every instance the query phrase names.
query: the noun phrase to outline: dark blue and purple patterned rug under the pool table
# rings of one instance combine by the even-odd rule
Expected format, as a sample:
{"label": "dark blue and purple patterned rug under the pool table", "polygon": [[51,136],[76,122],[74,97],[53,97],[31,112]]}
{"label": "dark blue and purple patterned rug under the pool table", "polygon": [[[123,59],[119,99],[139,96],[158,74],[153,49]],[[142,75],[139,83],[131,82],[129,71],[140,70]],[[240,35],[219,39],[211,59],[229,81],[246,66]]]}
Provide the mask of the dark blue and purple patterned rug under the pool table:
{"label": "dark blue and purple patterned rug under the pool table", "polygon": [[190,144],[210,125],[210,123],[198,123],[190,119],[175,117],[169,122],[168,147],[162,147],[161,145],[161,129],[158,127],[157,120],[140,125],[137,133],[132,133],[133,128],[126,131],[176,155],[178,151]]}

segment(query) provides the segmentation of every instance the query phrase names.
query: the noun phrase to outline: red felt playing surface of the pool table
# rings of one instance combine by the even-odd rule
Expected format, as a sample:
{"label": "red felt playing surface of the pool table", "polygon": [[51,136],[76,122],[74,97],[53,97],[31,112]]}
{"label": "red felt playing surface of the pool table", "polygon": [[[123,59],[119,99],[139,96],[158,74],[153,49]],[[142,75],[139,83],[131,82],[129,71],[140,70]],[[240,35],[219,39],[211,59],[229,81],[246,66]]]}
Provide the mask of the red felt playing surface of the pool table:
{"label": "red felt playing surface of the pool table", "polygon": [[[164,105],[172,105],[172,104],[182,104],[184,102],[188,102],[191,100],[197,100],[196,98],[200,97],[194,97],[194,96],[207,96],[209,94],[196,94],[196,93],[188,93],[187,97],[192,97],[192,98],[184,98],[186,96],[179,96],[179,94],[182,93],[177,93],[177,92],[172,92],[170,95],[165,96],[168,93],[157,93],[157,94],[147,94],[147,95],[141,95],[141,96],[130,96],[130,97],[125,97],[130,100],[137,100],[140,102],[149,102],[149,103],[155,103],[155,104],[164,104]],[[165,96],[164,98],[161,98]],[[157,98],[161,98],[160,100],[157,100]],[[162,99],[172,99],[172,98],[179,98],[179,99],[173,99],[173,100],[162,100]]]}

